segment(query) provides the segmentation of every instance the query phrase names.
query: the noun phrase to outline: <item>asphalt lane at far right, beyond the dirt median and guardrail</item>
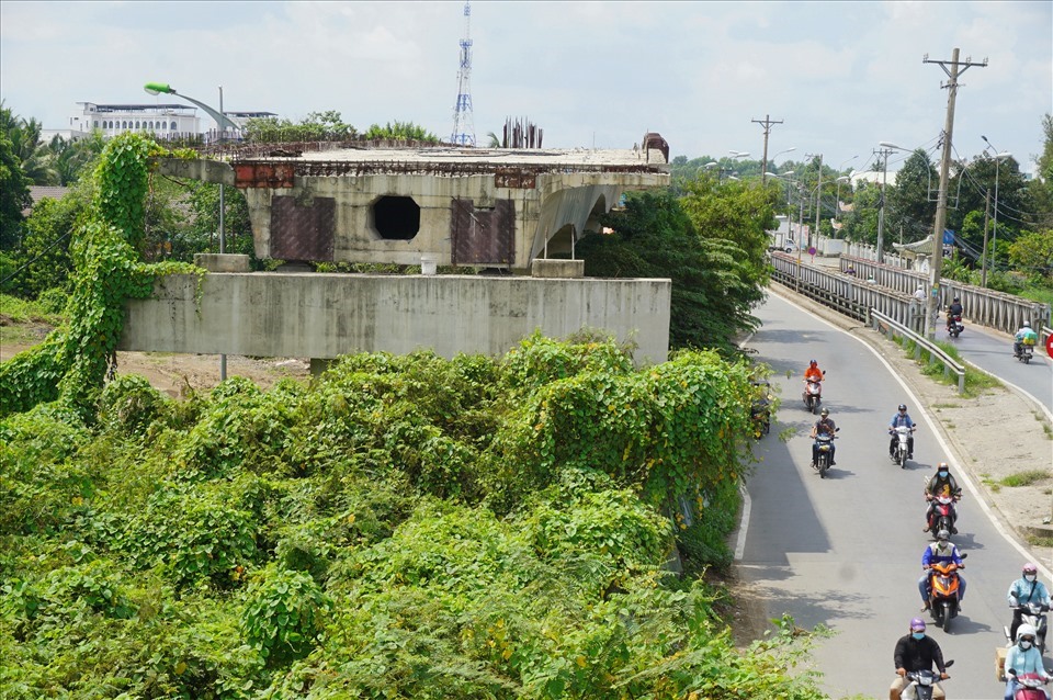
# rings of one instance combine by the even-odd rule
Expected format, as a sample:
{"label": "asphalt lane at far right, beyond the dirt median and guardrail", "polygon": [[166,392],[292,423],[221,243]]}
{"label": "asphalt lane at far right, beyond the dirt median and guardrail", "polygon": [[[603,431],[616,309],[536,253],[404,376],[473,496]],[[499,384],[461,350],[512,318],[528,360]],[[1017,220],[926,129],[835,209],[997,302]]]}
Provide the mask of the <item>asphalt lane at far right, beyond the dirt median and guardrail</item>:
{"label": "asphalt lane at far right, beyond the dirt median and guardrail", "polygon": [[951,338],[943,329],[946,323],[941,316],[936,330],[937,340],[954,345],[962,358],[1026,392],[1048,411],[1053,411],[1053,362],[1044,346],[1035,346],[1031,362],[1024,364],[1012,355],[1012,337],[1008,334],[966,323],[962,335]]}

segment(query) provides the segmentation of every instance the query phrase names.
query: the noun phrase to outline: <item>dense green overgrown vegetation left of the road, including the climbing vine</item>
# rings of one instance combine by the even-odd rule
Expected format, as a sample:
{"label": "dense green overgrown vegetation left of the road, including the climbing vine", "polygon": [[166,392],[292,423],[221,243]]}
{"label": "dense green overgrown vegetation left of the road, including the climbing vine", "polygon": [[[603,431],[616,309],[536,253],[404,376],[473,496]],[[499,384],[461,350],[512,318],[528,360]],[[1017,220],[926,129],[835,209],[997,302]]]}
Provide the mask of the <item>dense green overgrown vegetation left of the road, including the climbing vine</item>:
{"label": "dense green overgrown vegetation left of the road, including the climbing vine", "polygon": [[735,648],[700,576],[731,558],[745,360],[534,336],[182,402],[106,383],[125,300],[184,270],[140,262],[151,153],[107,145],[70,321],[0,365],[4,697],[819,697],[811,637]]}

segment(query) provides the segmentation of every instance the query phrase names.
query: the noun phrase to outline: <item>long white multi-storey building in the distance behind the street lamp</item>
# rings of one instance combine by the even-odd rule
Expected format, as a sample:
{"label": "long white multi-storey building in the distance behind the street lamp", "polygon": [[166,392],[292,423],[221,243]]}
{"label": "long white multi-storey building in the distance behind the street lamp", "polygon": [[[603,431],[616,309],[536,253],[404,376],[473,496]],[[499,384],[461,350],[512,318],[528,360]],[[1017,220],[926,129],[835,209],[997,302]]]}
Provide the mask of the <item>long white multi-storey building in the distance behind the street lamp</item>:
{"label": "long white multi-storey building in the distance behind the street lamp", "polygon": [[97,128],[106,137],[124,132],[148,132],[159,138],[201,135],[197,108],[186,104],[77,104],[81,109],[70,115],[68,125],[73,137]]}

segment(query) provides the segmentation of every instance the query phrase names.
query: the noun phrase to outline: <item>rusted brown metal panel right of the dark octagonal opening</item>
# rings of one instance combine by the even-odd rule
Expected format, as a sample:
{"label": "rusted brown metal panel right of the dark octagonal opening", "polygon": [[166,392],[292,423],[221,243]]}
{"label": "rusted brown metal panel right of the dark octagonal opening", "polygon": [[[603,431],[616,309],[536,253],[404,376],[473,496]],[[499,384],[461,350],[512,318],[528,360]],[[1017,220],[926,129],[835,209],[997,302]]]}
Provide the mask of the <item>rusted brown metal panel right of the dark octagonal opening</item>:
{"label": "rusted brown metal panel right of the dark octagonal opening", "polygon": [[492,210],[477,210],[472,200],[451,200],[450,238],[453,264],[512,264],[516,204],[498,200]]}

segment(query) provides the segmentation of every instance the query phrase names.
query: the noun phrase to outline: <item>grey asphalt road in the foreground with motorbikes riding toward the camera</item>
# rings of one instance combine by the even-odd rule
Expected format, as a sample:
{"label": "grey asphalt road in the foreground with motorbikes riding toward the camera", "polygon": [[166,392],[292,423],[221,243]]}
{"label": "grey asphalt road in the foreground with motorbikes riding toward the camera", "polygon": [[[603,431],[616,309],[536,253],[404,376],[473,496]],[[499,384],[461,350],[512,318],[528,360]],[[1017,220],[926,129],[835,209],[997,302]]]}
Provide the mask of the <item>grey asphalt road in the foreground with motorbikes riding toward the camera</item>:
{"label": "grey asphalt road in the foreground with motorbikes riding toward the camera", "polygon": [[[759,443],[763,462],[748,484],[736,552],[741,578],[761,591],[769,618],[789,613],[802,628],[823,624],[834,631],[813,658],[830,697],[886,698],[896,640],[920,614],[917,579],[930,542],[921,531],[922,488],[935,465],[947,460],[965,489],[961,532],[953,541],[969,553],[967,592],[951,633],[926,618],[929,634],[944,657],[956,662],[944,684],[949,698],[1000,698],[995,648],[1005,644],[1001,629],[1011,619],[1006,589],[1026,553],[1003,537],[940,444],[930,417],[869,346],[775,295],[757,315],[763,326],[746,345],[775,370],[772,383],[781,388],[782,407],[771,434]],[[966,330],[963,346],[970,335],[980,342],[981,334]],[[997,351],[989,354],[992,362],[1000,361]],[[800,398],[813,358],[827,372],[824,404],[841,429],[837,465],[825,479],[809,466],[807,431],[815,417]],[[1038,363],[1021,368],[1049,373]],[[905,470],[887,458],[886,426],[899,403],[920,425],[917,459]]]}

